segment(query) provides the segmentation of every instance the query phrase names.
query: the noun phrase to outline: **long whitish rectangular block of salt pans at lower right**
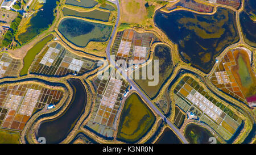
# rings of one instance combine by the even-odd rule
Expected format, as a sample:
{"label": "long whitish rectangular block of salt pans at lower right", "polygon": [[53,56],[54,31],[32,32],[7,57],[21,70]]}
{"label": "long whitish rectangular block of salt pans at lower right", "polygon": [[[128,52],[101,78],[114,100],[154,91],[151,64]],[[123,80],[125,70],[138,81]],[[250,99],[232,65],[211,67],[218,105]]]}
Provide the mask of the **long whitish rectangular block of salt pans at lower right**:
{"label": "long whitish rectangular block of salt pans at lower right", "polygon": [[[196,91],[195,89],[192,91]],[[200,108],[201,111],[203,111],[205,114],[207,114],[210,118],[215,120],[217,122],[217,119],[221,116],[222,110],[215,106],[210,100],[205,98],[202,94],[200,94],[198,91],[196,91],[195,94],[192,93],[192,91],[187,96],[187,99],[189,99],[193,104],[196,105],[196,107]]]}

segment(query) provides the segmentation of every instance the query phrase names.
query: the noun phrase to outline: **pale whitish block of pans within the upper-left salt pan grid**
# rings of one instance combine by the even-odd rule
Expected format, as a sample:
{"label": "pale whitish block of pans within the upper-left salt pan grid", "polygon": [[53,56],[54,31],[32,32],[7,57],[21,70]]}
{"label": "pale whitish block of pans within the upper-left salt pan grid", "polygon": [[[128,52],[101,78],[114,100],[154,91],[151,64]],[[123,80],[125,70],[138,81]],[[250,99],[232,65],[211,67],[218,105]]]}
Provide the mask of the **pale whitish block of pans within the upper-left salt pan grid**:
{"label": "pale whitish block of pans within the upper-left salt pan grid", "polygon": [[48,51],[46,52],[46,55],[44,55],[44,57],[40,61],[40,64],[51,66],[59,52],[59,49],[49,47]]}

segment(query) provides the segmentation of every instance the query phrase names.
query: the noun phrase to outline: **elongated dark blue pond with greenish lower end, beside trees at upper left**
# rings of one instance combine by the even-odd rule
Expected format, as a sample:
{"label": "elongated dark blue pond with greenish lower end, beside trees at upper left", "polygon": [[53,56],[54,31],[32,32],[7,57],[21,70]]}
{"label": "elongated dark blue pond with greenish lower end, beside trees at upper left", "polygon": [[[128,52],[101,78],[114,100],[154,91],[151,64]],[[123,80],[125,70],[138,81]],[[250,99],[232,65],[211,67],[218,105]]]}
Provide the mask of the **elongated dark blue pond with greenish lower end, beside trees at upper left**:
{"label": "elongated dark blue pond with greenish lower end, beside trees at upper left", "polygon": [[27,31],[21,33],[18,36],[18,39],[21,44],[30,41],[33,37],[37,36],[40,32],[46,30],[49,25],[52,24],[55,16],[53,15],[53,10],[56,8],[56,0],[46,0],[42,10],[32,15],[30,20],[30,26],[27,28]]}

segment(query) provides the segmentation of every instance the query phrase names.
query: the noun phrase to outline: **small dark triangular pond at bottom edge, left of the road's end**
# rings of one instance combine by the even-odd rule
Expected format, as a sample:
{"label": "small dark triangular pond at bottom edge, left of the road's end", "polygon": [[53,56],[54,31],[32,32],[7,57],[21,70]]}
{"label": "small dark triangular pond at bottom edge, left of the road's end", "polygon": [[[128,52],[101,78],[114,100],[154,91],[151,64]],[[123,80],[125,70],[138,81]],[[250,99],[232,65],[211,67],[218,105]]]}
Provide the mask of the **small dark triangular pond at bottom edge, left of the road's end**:
{"label": "small dark triangular pond at bottom edge, left of the road's end", "polygon": [[156,144],[181,144],[181,142],[170,128],[165,128]]}

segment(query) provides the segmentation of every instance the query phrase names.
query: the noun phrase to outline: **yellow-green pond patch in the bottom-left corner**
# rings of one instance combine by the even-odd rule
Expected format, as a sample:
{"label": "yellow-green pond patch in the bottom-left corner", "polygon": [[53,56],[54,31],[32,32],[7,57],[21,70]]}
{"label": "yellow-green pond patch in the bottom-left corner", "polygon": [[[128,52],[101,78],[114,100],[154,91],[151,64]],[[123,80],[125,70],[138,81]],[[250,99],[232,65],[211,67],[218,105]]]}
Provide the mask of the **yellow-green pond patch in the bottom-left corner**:
{"label": "yellow-green pond patch in the bottom-left corner", "polygon": [[0,129],[0,144],[19,144],[19,132]]}

